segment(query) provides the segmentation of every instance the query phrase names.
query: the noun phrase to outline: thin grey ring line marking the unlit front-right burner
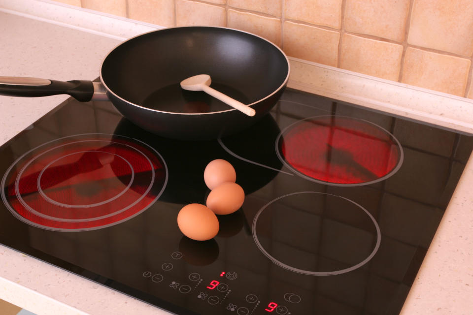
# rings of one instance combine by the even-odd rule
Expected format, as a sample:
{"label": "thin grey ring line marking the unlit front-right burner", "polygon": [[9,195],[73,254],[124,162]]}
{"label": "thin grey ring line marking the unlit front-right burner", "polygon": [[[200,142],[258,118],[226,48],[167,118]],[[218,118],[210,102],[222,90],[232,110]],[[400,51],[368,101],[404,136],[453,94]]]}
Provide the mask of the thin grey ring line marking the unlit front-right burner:
{"label": "thin grey ring line marking the unlit front-right burner", "polygon": [[[338,197],[338,198],[342,198],[346,201],[349,201],[351,203],[353,203],[354,205],[356,205],[357,207],[359,207],[361,210],[363,210],[367,215],[368,217],[371,219],[371,221],[373,222],[374,224],[374,227],[376,228],[376,244],[374,245],[374,248],[372,250],[372,252],[368,255],[368,257],[366,257],[364,260],[362,260],[361,262],[357,263],[356,265],[353,265],[351,267],[348,267],[348,268],[345,268],[345,269],[340,269],[340,270],[335,270],[335,271],[324,271],[324,272],[319,272],[319,271],[308,271],[308,270],[304,270],[304,269],[300,269],[300,268],[295,268],[295,267],[292,267],[292,266],[289,266],[279,260],[277,260],[276,258],[274,258],[269,252],[267,252],[263,246],[261,245],[260,241],[258,240],[258,236],[256,235],[256,222],[258,221],[258,217],[261,215],[261,213],[273,202],[279,200],[279,199],[282,199],[284,197],[288,197],[288,196],[292,196],[292,195],[296,195],[296,194],[302,194],[302,193],[317,193],[317,194],[325,194],[325,195],[329,195],[329,196],[333,196],[333,197]],[[365,265],[368,261],[370,261],[373,256],[376,254],[376,252],[378,251],[379,249],[379,245],[381,244],[381,229],[379,228],[379,225],[378,223],[376,222],[376,220],[374,219],[374,217],[372,216],[371,213],[368,212],[368,210],[366,210],[365,208],[363,208],[361,205],[357,204],[356,202],[354,201],[351,201],[350,199],[348,198],[345,198],[345,197],[342,197],[342,196],[338,196],[338,195],[333,195],[333,194],[330,194],[330,193],[325,193],[325,192],[317,192],[317,191],[298,191],[298,192],[292,192],[292,193],[288,193],[288,194],[285,194],[283,196],[280,196],[280,197],[277,197],[276,199],[273,199],[271,200],[270,202],[268,202],[266,205],[264,205],[260,210],[258,210],[258,212],[256,213],[256,216],[255,218],[253,219],[253,224],[252,224],[252,229],[253,229],[253,240],[255,241],[256,243],[256,246],[258,247],[258,249],[266,256],[268,257],[273,263],[275,263],[276,265],[278,265],[279,267],[282,267],[286,270],[289,270],[289,271],[293,271],[293,272],[296,272],[296,273],[299,273],[299,274],[304,274],[304,275],[309,275],[309,276],[334,276],[334,275],[341,275],[341,274],[344,274],[344,273],[347,273],[347,272],[350,272],[350,271],[353,271],[355,269],[358,269],[360,268],[361,266]]]}

